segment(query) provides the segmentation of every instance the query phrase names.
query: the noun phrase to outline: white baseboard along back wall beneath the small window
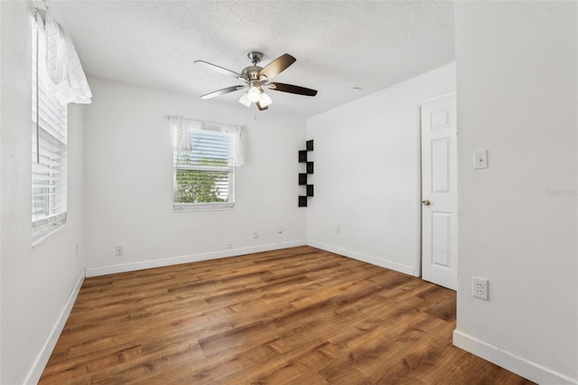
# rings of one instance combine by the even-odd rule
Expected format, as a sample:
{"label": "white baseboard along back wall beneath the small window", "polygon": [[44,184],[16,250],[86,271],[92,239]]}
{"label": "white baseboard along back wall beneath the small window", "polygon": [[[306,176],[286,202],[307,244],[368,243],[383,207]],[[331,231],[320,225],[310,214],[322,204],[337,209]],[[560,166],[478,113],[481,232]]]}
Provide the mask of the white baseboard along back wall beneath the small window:
{"label": "white baseboard along back wall beneath the small window", "polygon": [[272,243],[268,245],[255,246],[243,249],[227,249],[221,251],[211,251],[209,253],[191,254],[179,257],[158,258],[143,260],[138,262],[122,263],[118,265],[86,268],[87,277],[106,276],[107,274],[125,273],[126,271],[143,270],[145,268],[162,268],[164,266],[180,265],[182,263],[200,262],[202,260],[237,257],[244,254],[259,253],[277,249],[294,248],[305,246],[304,240],[293,240],[282,243]]}

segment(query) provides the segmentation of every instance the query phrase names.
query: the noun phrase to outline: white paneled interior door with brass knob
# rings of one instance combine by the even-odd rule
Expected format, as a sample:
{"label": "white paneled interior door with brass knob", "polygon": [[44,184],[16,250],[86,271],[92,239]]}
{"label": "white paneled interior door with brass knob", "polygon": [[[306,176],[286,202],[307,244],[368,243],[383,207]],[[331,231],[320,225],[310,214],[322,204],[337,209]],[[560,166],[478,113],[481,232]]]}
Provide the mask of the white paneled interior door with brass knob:
{"label": "white paneled interior door with brass knob", "polygon": [[422,278],[457,289],[458,200],[455,95],[421,106]]}

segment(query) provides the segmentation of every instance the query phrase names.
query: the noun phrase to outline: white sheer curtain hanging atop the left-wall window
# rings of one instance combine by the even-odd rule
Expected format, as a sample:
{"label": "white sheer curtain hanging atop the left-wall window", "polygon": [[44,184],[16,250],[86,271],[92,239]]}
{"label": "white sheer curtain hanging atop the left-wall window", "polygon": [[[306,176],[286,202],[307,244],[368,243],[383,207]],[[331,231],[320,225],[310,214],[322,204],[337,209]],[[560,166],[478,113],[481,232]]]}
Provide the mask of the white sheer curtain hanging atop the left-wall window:
{"label": "white sheer curtain hanging atop the left-wall window", "polygon": [[52,92],[61,104],[90,104],[92,93],[89,82],[80,65],[79,55],[69,35],[56,23],[50,11],[45,14],[45,23],[39,13],[36,14],[36,26],[39,39],[39,70],[46,88]]}

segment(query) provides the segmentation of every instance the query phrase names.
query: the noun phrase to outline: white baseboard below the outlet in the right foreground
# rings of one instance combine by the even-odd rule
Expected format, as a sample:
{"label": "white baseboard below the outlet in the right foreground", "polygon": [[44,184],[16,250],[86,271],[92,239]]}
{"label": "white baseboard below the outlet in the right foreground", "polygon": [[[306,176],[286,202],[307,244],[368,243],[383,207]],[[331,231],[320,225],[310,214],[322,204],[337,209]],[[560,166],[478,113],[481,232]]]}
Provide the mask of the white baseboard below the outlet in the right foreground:
{"label": "white baseboard below the outlet in the right foreground", "polygon": [[499,346],[481,341],[457,329],[453,331],[453,344],[464,351],[471,352],[486,361],[495,363],[508,371],[513,371],[527,380],[532,380],[539,384],[578,385],[578,380],[547,369],[536,362],[528,361],[517,354],[507,352]]}

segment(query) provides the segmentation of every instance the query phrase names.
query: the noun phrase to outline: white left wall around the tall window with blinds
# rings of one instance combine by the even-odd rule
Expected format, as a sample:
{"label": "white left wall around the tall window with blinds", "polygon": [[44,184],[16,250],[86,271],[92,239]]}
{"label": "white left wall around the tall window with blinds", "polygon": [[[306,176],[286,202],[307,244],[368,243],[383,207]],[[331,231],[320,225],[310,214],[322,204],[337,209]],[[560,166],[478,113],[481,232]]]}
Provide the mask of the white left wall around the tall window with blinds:
{"label": "white left wall around the tall window with blinds", "polygon": [[[1,302],[3,384],[31,380],[42,371],[53,327],[83,274],[82,109],[69,108],[68,224],[31,246],[31,8],[0,2],[2,28]],[[76,256],[79,245],[79,257]],[[64,315],[66,317],[66,314]],[[60,324],[62,326],[62,324]],[[60,330],[55,330],[56,337]],[[55,343],[55,340],[51,340]],[[33,367],[33,362],[39,364]],[[34,371],[36,370],[36,371]]]}

